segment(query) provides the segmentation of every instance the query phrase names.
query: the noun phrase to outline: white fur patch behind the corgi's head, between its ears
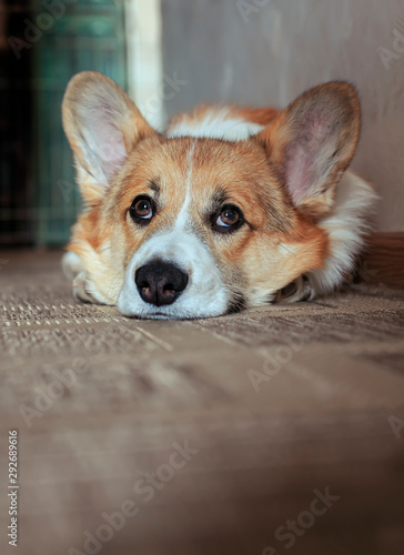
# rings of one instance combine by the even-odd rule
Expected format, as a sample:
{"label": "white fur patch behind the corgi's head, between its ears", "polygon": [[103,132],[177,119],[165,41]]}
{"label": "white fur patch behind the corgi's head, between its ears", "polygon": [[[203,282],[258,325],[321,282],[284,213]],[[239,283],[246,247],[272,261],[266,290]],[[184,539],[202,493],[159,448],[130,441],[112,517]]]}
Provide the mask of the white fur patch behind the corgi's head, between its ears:
{"label": "white fur patch behind the corgi's head, between its ears", "polygon": [[228,108],[210,108],[201,119],[186,119],[170,125],[166,130],[169,139],[178,137],[195,137],[222,139],[224,141],[245,141],[264,129],[243,118],[234,118]]}

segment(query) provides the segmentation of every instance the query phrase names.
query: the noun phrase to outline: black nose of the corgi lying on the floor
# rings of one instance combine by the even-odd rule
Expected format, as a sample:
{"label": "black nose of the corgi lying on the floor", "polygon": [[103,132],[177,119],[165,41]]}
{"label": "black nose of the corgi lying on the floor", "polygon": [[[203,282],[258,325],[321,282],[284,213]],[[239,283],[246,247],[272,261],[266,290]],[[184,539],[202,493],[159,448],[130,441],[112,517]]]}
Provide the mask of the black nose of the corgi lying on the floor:
{"label": "black nose of the corgi lying on the floor", "polygon": [[188,274],[175,264],[155,260],[141,266],[134,274],[140,296],[150,304],[172,304],[188,284]]}

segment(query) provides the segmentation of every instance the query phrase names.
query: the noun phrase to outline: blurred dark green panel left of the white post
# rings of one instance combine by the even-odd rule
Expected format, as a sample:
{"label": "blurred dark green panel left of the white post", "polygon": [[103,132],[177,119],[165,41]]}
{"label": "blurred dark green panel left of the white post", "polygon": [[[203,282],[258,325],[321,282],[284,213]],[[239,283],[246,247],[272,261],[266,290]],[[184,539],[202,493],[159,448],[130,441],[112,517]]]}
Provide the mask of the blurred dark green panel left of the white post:
{"label": "blurred dark green panel left of the white post", "polygon": [[[64,244],[81,206],[72,155],[63,134],[61,102],[70,78],[100,71],[127,87],[123,1],[60,0],[64,13],[44,18],[47,2],[34,2],[32,21],[49,30],[33,46],[33,190],[36,243]],[[42,18],[42,19],[41,19]]]}

